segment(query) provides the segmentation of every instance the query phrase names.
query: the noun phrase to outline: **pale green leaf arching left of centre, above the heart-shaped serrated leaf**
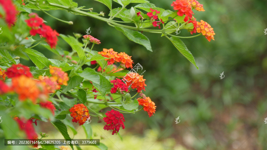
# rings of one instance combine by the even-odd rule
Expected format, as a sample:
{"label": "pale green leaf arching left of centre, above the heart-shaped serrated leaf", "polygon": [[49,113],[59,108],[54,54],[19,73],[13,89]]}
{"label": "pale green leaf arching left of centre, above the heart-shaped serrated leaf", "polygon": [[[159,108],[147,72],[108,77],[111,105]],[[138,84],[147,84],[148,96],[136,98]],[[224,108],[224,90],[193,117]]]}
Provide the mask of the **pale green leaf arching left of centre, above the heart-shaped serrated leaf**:
{"label": "pale green leaf arching left of centre, above the heart-shaped serrated leaf", "polygon": [[78,73],[81,77],[83,77],[86,80],[90,80],[96,84],[100,84],[100,77],[99,73],[97,73],[92,68],[85,68],[82,73]]}

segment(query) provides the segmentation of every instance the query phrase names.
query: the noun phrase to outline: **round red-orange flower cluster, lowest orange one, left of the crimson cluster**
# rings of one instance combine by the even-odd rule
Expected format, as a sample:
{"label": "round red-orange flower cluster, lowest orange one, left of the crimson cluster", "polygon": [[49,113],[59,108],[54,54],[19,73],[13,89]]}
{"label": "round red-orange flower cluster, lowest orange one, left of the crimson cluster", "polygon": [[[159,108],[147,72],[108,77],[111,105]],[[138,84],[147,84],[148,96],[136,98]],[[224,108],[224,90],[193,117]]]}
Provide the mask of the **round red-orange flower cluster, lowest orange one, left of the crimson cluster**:
{"label": "round red-orange flower cluster, lowest orange one, left of the crimson cluster", "polygon": [[80,125],[83,125],[87,118],[90,117],[89,111],[86,106],[83,104],[75,104],[69,109],[71,112],[72,122],[78,122]]}

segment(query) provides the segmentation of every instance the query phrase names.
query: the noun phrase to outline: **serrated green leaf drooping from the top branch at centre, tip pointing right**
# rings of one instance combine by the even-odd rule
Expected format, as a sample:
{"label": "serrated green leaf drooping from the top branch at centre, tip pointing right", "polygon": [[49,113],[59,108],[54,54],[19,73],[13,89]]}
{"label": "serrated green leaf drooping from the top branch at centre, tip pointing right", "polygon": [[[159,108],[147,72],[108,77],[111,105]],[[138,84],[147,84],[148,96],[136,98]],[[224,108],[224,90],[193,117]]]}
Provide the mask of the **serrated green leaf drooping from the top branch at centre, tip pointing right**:
{"label": "serrated green leaf drooping from the top branch at centre, tip pointing right", "polygon": [[[144,3],[144,4],[146,4],[146,3]],[[138,31],[126,29],[123,27],[116,27],[115,26],[115,28],[118,31],[121,31],[129,40],[143,45],[144,47],[147,48],[147,50],[152,52],[150,41],[146,36],[144,36],[144,34],[138,32]]]}

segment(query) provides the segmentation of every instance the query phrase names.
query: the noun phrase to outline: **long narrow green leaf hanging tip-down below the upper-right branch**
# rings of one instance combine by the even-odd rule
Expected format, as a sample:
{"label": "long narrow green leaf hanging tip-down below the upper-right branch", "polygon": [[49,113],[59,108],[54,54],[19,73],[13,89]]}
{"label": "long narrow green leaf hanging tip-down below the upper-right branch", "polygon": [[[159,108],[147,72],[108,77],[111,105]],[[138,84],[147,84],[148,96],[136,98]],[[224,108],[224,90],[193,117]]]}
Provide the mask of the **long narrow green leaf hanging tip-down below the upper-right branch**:
{"label": "long narrow green leaf hanging tip-down below the upper-right branch", "polygon": [[174,46],[177,48],[177,50],[179,50],[179,52],[182,53],[182,55],[185,56],[185,58],[187,58],[191,63],[193,63],[193,65],[196,66],[196,68],[198,69],[198,66],[196,65],[196,61],[193,57],[193,55],[191,54],[191,52],[187,49],[187,47],[185,46],[185,44],[182,42],[181,39],[172,36],[170,38],[172,44],[174,44]]}

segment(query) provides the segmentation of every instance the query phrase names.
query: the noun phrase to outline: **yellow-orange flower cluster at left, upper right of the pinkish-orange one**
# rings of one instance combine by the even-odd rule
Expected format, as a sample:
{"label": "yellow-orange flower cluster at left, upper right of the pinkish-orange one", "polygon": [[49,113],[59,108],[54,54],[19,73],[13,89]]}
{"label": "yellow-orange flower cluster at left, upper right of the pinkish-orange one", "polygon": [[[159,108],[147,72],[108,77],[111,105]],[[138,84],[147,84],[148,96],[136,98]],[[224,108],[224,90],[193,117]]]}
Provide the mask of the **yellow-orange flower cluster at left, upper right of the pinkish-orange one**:
{"label": "yellow-orange flower cluster at left, upper right of the pinkish-orange one", "polygon": [[50,74],[52,74],[51,79],[57,81],[60,85],[68,85],[67,81],[69,81],[68,74],[62,71],[62,68],[58,68],[55,66],[49,66]]}

